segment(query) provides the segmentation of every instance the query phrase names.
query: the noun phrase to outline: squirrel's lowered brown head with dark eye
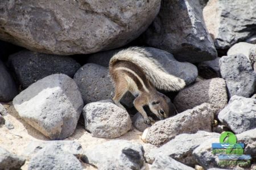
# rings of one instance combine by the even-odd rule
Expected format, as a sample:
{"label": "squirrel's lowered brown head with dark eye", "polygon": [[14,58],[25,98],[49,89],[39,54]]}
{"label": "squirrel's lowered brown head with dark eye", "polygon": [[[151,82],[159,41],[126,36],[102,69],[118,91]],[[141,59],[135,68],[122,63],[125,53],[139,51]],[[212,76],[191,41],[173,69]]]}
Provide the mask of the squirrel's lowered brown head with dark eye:
{"label": "squirrel's lowered brown head with dark eye", "polygon": [[164,120],[164,118],[168,118],[169,116],[170,103],[171,99],[169,99],[169,97],[158,92],[148,107],[150,108],[151,112],[154,113],[160,120]]}

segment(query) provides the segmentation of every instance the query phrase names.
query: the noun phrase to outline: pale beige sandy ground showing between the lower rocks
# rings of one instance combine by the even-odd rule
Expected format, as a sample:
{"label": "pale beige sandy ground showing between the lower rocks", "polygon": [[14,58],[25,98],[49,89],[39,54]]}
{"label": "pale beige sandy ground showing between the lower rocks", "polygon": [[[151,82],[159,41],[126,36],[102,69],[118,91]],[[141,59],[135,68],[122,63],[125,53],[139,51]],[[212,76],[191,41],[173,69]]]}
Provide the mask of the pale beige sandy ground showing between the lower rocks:
{"label": "pale beige sandy ground showing between the lower rocks", "polygon": [[[32,126],[28,125],[25,121],[23,121],[18,113],[15,111],[13,105],[11,103],[1,103],[7,109],[7,116],[5,116],[5,120],[10,121],[11,124],[14,125],[14,129],[7,129],[5,125],[0,126],[0,146],[8,150],[9,152],[13,152],[16,155],[23,155],[25,148],[28,146],[28,143],[31,141],[49,141],[47,137],[41,134],[39,131],[32,128]],[[125,139],[128,141],[133,141],[137,143],[144,144],[141,141],[142,133],[136,129],[130,130],[128,133],[123,135],[122,137],[115,139],[102,139],[102,138],[94,138],[90,133],[88,133],[82,125],[77,125],[75,133],[68,137],[65,140],[73,140],[79,142],[82,145],[82,148],[86,150],[86,148],[93,147],[100,143],[104,143],[110,140],[117,139]],[[22,166],[22,169],[27,169],[29,160]],[[96,169],[92,165],[83,164],[84,169]],[[146,166],[148,166],[146,164]],[[145,167],[143,167],[144,169]],[[147,168],[146,168],[147,169]]]}

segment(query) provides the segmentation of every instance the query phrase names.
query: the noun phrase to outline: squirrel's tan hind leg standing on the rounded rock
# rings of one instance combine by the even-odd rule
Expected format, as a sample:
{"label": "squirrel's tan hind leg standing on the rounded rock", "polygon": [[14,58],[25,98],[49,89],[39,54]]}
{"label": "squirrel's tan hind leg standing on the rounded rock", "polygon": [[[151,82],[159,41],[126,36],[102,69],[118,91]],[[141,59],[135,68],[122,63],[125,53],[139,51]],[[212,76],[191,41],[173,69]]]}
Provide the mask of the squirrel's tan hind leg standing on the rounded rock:
{"label": "squirrel's tan hind leg standing on the rounded rock", "polygon": [[113,101],[118,107],[120,107],[122,109],[125,109],[125,107],[123,107],[123,105],[120,103],[120,100],[122,99],[123,95],[126,94],[127,91],[128,91],[128,87],[125,82],[123,82],[123,81],[116,82],[115,95],[113,97]]}

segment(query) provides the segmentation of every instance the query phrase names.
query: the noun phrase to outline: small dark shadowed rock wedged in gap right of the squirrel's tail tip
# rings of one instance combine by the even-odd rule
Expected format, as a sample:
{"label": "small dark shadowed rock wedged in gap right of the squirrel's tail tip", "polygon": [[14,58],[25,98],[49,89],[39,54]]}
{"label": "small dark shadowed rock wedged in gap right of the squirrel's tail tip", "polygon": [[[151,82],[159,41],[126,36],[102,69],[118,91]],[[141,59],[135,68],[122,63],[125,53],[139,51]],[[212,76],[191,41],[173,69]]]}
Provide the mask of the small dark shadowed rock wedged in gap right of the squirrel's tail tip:
{"label": "small dark shadowed rock wedged in gap right of the squirrel's tail tip", "polygon": [[205,79],[221,77],[220,66],[218,65],[220,57],[210,61],[203,61],[197,66],[199,75]]}

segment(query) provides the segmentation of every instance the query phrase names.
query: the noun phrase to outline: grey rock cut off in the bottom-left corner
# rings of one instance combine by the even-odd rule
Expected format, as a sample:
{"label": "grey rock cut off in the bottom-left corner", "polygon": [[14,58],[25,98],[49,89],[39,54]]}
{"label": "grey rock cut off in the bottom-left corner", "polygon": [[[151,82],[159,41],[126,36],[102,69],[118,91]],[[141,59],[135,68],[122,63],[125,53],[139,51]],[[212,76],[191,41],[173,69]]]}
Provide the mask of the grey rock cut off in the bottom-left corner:
{"label": "grey rock cut off in the bottom-left corner", "polygon": [[5,148],[0,147],[0,169],[19,169],[25,161],[21,156],[11,154]]}

